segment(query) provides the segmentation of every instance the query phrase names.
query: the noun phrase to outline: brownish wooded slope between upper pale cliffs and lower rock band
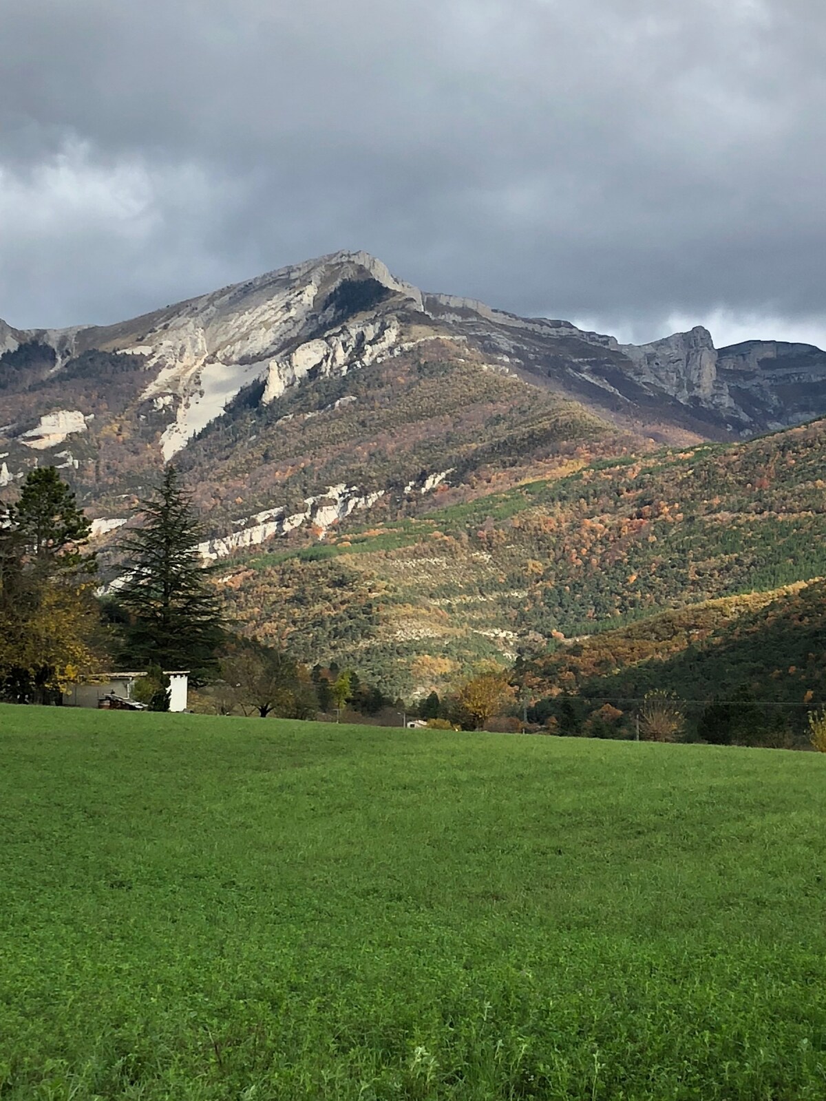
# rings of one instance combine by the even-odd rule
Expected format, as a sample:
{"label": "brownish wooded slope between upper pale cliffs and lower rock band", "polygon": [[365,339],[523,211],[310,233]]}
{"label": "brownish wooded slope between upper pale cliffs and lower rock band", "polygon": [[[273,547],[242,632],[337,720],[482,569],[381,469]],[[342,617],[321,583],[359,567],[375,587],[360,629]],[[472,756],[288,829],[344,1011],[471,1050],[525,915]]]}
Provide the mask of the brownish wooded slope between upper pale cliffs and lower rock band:
{"label": "brownish wooded slope between upper pale cliffs and lower rock band", "polygon": [[256,396],[242,393],[178,459],[216,534],[239,505],[254,515],[273,495],[289,513],[319,487],[354,486],[381,492],[371,516],[395,520],[417,511],[428,478],[472,495],[489,492],[491,479],[523,479],[536,462],[651,446],[438,340],[265,405]]}

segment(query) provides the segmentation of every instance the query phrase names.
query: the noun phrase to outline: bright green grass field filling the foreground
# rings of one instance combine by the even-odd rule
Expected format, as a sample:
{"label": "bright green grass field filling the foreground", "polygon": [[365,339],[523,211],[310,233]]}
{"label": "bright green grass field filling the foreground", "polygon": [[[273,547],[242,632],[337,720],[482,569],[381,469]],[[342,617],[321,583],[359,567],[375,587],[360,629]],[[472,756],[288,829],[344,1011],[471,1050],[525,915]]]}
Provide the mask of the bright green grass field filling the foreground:
{"label": "bright green grass field filling the foreground", "polygon": [[0,708],[2,1101],[826,1098],[826,757]]}

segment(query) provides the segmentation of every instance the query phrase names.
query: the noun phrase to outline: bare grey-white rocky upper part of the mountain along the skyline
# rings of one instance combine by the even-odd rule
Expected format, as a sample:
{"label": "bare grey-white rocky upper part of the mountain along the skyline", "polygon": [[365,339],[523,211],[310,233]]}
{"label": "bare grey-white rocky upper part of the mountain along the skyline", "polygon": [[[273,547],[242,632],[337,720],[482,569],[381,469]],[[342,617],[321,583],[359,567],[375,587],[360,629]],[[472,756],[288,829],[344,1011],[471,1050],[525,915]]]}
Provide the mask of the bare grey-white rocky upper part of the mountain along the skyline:
{"label": "bare grey-white rocky upper part of the mountain along the skyline", "polygon": [[260,383],[269,403],[307,380],[345,375],[436,336],[624,416],[648,416],[659,403],[661,417],[678,419],[684,406],[715,432],[742,433],[826,410],[819,349],[750,341],[718,352],[702,327],[620,346],[568,321],[423,294],[366,252],[307,261],[106,328],[24,333],[0,321],[0,353],[40,341],[54,349],[58,372],[90,349],[141,357],[149,378],[140,400],[163,414],[160,447],[170,459],[246,388]]}

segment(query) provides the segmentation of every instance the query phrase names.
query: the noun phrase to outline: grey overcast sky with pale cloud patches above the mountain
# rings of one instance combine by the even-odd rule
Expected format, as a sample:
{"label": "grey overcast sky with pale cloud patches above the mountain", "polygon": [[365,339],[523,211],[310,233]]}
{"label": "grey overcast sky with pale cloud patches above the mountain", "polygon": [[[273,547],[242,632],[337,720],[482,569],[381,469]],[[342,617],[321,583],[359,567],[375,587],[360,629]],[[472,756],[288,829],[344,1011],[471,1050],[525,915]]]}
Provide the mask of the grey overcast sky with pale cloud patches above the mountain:
{"label": "grey overcast sky with pale cloud patches above the mountain", "polygon": [[824,0],[0,0],[0,317],[338,249],[623,339],[826,346]]}

